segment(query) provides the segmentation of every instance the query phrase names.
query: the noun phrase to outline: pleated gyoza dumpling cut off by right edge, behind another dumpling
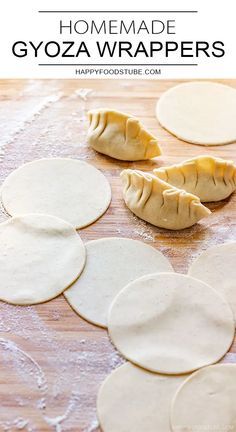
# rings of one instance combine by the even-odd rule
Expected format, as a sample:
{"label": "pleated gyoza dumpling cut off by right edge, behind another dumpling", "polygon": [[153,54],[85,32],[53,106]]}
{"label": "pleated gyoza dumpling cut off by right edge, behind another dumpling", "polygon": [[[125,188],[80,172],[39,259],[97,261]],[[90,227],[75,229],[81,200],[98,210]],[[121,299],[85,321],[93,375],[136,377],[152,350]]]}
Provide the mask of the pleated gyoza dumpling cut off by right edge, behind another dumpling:
{"label": "pleated gyoza dumpling cut off by right edge, behind another dumpling", "polygon": [[220,201],[236,190],[236,167],[232,161],[199,156],[153,173],[173,186],[197,195],[202,202]]}

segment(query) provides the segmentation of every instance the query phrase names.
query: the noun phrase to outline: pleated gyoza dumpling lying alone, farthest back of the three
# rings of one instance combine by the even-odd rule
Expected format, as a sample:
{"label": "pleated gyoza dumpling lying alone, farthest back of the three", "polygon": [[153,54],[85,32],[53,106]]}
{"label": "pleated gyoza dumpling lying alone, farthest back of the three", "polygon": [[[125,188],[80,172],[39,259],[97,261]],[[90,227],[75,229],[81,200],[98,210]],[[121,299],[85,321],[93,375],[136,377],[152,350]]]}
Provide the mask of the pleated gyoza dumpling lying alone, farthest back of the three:
{"label": "pleated gyoza dumpling lying alone, farthest back of the three", "polygon": [[89,111],[88,116],[88,142],[98,152],[124,161],[161,154],[156,138],[137,118],[105,108]]}

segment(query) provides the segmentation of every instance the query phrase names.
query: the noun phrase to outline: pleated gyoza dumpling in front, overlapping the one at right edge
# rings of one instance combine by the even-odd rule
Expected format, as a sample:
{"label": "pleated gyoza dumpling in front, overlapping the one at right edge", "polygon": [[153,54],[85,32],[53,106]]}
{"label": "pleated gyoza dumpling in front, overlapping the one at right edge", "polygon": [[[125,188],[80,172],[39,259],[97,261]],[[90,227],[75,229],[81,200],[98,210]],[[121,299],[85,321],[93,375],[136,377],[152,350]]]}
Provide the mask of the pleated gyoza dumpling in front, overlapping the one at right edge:
{"label": "pleated gyoza dumpling in front, overlapping the one at right edge", "polygon": [[161,228],[179,230],[190,227],[211,213],[199,198],[136,170],[121,173],[127,207],[138,217]]}

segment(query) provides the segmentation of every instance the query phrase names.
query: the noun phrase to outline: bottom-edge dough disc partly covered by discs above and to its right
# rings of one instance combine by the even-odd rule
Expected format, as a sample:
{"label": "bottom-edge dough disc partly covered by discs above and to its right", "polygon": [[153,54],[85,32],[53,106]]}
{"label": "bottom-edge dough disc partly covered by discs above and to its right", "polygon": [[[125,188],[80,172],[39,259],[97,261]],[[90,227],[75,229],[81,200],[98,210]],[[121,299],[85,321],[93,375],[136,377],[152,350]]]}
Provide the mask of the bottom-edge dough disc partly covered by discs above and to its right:
{"label": "bottom-edge dough disc partly covered by discs above and to its right", "polygon": [[185,379],[154,374],[131,363],[120,366],[98,394],[103,432],[170,432],[171,400]]}

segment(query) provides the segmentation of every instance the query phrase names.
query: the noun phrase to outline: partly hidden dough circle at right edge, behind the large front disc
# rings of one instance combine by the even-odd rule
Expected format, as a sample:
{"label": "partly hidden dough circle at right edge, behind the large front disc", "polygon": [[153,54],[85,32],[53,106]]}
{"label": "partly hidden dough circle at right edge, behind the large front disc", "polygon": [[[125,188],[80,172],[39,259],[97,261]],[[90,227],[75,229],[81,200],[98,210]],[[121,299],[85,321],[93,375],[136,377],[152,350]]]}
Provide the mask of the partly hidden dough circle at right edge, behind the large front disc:
{"label": "partly hidden dough circle at right edge, behind the large front disc", "polygon": [[228,301],[236,324],[236,243],[213,246],[190,266],[189,275],[211,285]]}

